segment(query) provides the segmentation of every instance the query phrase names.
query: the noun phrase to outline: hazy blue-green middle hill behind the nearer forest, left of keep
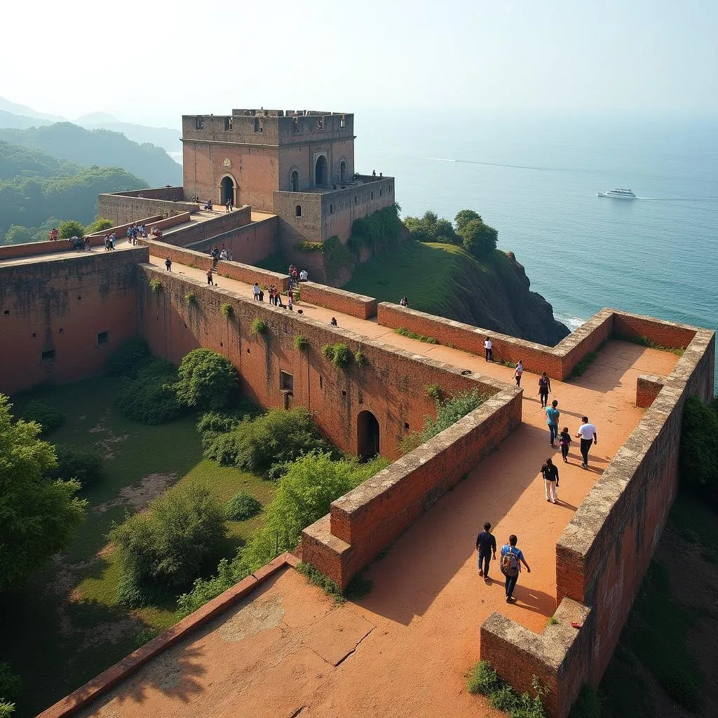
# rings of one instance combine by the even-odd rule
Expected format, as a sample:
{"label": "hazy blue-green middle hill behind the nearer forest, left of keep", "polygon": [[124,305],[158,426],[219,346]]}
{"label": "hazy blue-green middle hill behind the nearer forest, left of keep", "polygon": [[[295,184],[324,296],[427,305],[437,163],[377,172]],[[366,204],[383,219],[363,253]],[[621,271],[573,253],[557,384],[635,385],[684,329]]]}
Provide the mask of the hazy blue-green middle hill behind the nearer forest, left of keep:
{"label": "hazy blue-green middle hill behind the nearer forest, left of keep", "polygon": [[28,129],[0,129],[0,140],[85,167],[123,167],[151,187],[182,184],[182,167],[164,149],[137,144],[118,132],[86,130],[70,122],[56,122]]}

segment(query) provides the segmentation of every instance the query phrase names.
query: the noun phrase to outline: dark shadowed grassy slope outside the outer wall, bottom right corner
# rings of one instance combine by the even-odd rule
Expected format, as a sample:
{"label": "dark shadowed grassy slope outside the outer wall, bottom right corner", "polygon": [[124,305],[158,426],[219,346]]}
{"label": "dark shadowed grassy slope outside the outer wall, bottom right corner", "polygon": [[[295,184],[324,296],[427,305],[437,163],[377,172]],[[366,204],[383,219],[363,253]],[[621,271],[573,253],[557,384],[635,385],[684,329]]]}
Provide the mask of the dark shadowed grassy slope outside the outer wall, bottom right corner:
{"label": "dark shadowed grassy slope outside the outer wall, bottom right corner", "polygon": [[600,686],[603,718],[718,711],[718,516],[681,494]]}

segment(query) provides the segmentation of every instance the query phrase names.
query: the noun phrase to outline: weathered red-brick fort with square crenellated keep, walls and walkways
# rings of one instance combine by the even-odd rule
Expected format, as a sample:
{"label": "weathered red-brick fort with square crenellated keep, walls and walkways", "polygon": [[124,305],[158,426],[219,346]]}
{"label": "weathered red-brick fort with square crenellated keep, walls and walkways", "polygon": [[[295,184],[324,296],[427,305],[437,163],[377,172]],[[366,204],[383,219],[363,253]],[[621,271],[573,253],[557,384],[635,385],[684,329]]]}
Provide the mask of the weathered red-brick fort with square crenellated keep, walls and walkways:
{"label": "weathered red-brick fort with square crenellated keep, walls and walkways", "polygon": [[[714,332],[603,309],[555,347],[492,334],[495,359],[523,359],[518,387],[513,370],[484,360],[480,327],[313,281],[302,284],[302,314],[254,302],[254,281],[286,288],[289,278],[253,261],[277,248],[303,260],[300,241],[345,243],[355,219],[394,202],[393,180],[355,173],[350,114],[234,110],[182,124],[184,187],[99,200],[118,227],[166,222],[162,241],[0,249],[0,391],[101,373],[108,353],[139,334],[174,363],[197,347],[222,353],[258,404],[305,406],[341,449],[378,449],[393,463],[337,498],[296,551],[42,717],[480,716],[485,704],[464,687],[479,658],[519,691],[536,676],[549,714],[567,717],[581,686],[600,681],[661,536],[684,402],[713,396]],[[202,215],[187,200],[197,196],[237,209]],[[234,248],[233,261],[214,266],[207,249],[218,242]],[[257,317],[269,327],[261,335],[251,331]],[[309,348],[295,346],[297,335]],[[333,342],[368,363],[335,367],[320,352]],[[589,470],[574,451],[561,468],[557,505],[544,501],[538,472],[548,437],[533,391],[544,370],[569,426],[588,414],[601,439]],[[488,399],[400,455],[401,438],[432,413],[429,385]],[[504,602],[502,581],[477,575],[485,520],[500,543],[517,533],[531,563],[516,605]],[[365,571],[374,588],[337,604],[295,570],[300,559],[341,587]]]}

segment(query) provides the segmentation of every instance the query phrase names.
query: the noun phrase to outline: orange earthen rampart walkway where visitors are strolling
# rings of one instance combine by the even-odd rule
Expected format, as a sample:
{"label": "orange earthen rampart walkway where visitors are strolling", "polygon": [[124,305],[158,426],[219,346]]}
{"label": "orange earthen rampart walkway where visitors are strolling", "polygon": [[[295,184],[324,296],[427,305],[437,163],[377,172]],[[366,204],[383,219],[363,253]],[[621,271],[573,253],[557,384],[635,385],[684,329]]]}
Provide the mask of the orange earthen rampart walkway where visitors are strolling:
{"label": "orange earthen rampart walkway where visitors are strolling", "polygon": [[[151,257],[164,270],[164,258]],[[205,279],[205,271],[174,262],[174,274]],[[251,296],[251,285],[217,284]],[[360,320],[299,302],[307,316],[416,354],[510,383],[513,370],[482,357],[397,335]],[[587,414],[599,444],[589,470],[579,467],[577,440],[569,465],[549,447],[537,376],[524,373],[523,423],[500,447],[370,566],[373,590],[335,605],[293,569],[284,569],[247,600],[169,648],[79,714],[83,716],[345,716],[498,715],[465,691],[464,674],[479,656],[479,627],[493,611],[540,632],[556,609],[556,540],[617,449],[638,424],[641,373],[666,376],[676,356],[612,340],[578,380],[553,381],[561,426],[575,434]],[[559,504],[546,503],[539,468],[556,459]],[[516,533],[531,574],[519,579],[506,605],[503,577],[477,575],[474,541],[484,521],[499,546]]]}

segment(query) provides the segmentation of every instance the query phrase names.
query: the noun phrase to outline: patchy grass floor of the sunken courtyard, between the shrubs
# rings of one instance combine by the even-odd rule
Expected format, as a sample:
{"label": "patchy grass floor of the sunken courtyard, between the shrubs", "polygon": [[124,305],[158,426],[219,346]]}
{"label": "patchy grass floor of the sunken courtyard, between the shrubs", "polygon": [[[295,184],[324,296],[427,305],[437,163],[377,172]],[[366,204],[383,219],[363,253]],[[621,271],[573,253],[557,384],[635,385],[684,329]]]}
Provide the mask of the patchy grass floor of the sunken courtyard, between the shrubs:
{"label": "patchy grass floor of the sunken courtyard, between the shrubs", "polygon": [[[113,522],[122,521],[133,509],[126,503],[104,511],[95,507],[116,501],[121,488],[139,485],[155,472],[174,474],[174,482],[208,482],[222,500],[240,489],[263,504],[274,496],[274,483],[202,458],[195,416],[163,426],[141,426],[108,411],[117,381],[93,378],[33,395],[47,397],[67,414],[65,425],[50,435],[50,442],[95,443],[106,460],[103,480],[83,492],[89,503],[87,521],[65,560],[37,572],[23,589],[0,597],[4,616],[0,658],[9,660],[24,681],[20,718],[36,714],[177,620],[172,601],[136,611],[116,605],[116,554],[111,549],[96,554],[107,546],[106,534]],[[15,400],[16,414],[28,399]],[[234,556],[263,521],[260,514],[248,521],[228,522],[223,554]],[[216,564],[213,561],[211,568]]]}

